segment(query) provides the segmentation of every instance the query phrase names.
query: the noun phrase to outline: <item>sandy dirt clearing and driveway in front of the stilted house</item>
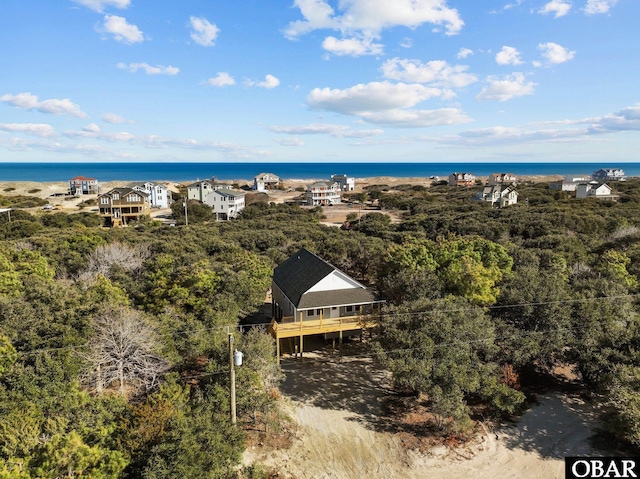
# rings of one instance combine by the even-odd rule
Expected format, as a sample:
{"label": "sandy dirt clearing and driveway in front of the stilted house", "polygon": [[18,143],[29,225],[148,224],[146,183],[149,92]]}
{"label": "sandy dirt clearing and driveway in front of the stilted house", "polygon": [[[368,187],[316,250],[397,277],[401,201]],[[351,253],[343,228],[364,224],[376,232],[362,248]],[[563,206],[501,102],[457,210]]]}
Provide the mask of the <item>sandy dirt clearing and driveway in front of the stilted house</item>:
{"label": "sandy dirt clearing and driveway in front of the stilted house", "polygon": [[252,448],[245,463],[275,468],[295,479],[524,478],[564,477],[568,455],[594,454],[588,439],[596,411],[559,393],[538,397],[516,424],[489,430],[473,444],[406,449],[402,435],[385,432],[381,399],[389,377],[366,356],[331,354],[331,347],[306,354],[302,364],[283,361],[291,415],[299,424],[287,450]]}

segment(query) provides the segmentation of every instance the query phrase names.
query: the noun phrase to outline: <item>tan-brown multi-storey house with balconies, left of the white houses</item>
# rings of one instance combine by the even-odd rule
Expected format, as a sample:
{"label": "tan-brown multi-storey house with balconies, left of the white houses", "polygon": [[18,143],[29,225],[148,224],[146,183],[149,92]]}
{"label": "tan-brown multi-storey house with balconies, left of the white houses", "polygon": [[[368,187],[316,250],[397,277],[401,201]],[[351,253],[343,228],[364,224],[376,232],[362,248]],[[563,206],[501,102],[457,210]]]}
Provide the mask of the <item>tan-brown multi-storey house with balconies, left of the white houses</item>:
{"label": "tan-brown multi-storey house with balconies, left of the white houses", "polygon": [[126,226],[131,221],[149,217],[149,195],[133,188],[113,188],[98,195],[99,214],[107,226]]}

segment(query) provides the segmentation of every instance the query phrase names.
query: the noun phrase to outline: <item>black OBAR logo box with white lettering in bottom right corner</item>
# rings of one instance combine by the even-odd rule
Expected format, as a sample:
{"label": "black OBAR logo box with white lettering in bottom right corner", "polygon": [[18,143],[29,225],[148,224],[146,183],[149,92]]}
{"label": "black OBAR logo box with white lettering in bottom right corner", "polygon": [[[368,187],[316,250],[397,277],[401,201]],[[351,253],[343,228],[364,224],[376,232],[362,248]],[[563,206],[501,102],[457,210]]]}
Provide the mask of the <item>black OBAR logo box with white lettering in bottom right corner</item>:
{"label": "black OBAR logo box with white lettering in bottom right corner", "polygon": [[638,477],[637,457],[567,457],[564,460],[568,479]]}

